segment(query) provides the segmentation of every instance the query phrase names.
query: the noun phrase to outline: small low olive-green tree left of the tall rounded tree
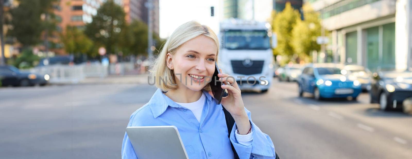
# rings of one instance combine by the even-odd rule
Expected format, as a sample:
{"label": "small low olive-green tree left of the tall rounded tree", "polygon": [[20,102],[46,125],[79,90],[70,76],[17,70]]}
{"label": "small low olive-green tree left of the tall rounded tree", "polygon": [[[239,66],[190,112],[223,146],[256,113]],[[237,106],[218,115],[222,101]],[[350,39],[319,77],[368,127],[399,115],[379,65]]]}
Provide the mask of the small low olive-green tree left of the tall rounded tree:
{"label": "small low olive-green tree left of the tall rounded tree", "polygon": [[91,52],[93,41],[75,26],[66,27],[66,32],[61,34],[61,42],[68,53],[87,54],[92,57],[97,55],[97,52]]}

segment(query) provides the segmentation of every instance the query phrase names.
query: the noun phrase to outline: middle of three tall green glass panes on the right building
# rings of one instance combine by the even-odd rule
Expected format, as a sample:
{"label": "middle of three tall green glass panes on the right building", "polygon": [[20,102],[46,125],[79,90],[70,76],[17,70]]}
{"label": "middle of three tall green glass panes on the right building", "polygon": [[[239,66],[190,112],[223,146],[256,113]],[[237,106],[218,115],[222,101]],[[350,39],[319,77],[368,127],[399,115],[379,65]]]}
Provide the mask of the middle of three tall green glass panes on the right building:
{"label": "middle of three tall green glass panes on the right building", "polygon": [[368,28],[366,32],[367,66],[373,70],[379,66],[379,27]]}

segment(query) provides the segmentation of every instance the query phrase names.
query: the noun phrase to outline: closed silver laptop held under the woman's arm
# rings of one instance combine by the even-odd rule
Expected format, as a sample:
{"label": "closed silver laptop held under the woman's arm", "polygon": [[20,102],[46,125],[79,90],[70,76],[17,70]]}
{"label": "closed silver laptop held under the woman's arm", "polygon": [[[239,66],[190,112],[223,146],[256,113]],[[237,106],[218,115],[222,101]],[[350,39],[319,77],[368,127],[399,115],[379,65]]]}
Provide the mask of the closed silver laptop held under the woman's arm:
{"label": "closed silver laptop held under the woman's arm", "polygon": [[126,127],[138,159],[189,159],[176,126]]}

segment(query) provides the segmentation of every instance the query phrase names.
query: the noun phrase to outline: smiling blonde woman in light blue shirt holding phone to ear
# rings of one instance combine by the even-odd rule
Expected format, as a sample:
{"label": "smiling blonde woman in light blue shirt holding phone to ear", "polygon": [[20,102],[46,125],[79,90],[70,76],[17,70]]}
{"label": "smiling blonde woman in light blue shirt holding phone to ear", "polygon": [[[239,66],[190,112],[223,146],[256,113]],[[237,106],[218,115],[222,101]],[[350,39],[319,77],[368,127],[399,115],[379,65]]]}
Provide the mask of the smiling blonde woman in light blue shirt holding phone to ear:
{"label": "smiling blonde woman in light blue shirt holding phone to ear", "polygon": [[[230,84],[222,85],[229,95],[219,105],[214,101],[205,80],[215,72],[218,53],[218,37],[209,27],[195,21],[180,25],[150,70],[157,91],[131,115],[128,126],[175,125],[193,159],[234,158],[232,145],[241,159],[275,158],[272,140],[252,122],[239,86],[229,75],[218,75]],[[222,105],[235,121],[229,137]],[[137,158],[127,133],[122,158]]]}

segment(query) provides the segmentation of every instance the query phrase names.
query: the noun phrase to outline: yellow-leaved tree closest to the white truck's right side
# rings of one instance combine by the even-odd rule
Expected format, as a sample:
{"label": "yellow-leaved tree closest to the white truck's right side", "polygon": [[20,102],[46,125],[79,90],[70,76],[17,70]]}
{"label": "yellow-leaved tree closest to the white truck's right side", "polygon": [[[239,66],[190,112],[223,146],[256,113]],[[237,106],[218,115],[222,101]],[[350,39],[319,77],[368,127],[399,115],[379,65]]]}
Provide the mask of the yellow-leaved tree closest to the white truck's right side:
{"label": "yellow-leaved tree closest to the white truck's right side", "polygon": [[293,59],[295,54],[292,44],[292,30],[295,27],[296,20],[300,18],[299,11],[292,8],[290,2],[286,3],[283,11],[272,14],[272,30],[276,33],[278,45],[274,49],[274,55],[282,55],[285,59],[282,63]]}

